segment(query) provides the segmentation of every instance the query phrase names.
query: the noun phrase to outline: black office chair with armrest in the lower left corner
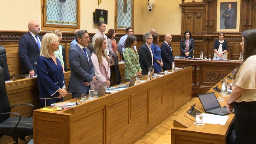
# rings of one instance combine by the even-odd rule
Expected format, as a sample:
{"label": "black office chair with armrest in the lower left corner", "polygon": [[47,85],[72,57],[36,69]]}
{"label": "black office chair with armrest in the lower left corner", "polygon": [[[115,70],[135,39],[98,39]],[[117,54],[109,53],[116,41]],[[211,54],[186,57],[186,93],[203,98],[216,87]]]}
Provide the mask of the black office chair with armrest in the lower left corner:
{"label": "black office chair with armrest in the lower left corner", "polygon": [[[7,135],[18,143],[18,138],[25,141],[25,137],[33,134],[33,118],[30,118],[34,110],[32,104],[16,104],[10,107],[5,89],[4,70],[0,67],[0,138]],[[19,113],[12,113],[11,109],[18,105],[29,105],[33,108],[29,118],[22,118]],[[17,117],[10,117],[10,114]]]}

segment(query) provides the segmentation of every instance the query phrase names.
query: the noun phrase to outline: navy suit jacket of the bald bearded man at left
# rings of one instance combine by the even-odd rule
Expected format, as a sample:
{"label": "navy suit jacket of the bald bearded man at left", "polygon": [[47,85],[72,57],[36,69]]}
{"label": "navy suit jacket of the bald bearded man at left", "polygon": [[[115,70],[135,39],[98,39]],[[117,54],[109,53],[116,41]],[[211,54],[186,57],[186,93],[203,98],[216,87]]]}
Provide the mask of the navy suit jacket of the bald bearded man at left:
{"label": "navy suit jacket of the bald bearded man at left", "polygon": [[[38,35],[40,41],[42,38]],[[28,73],[29,70],[34,70],[37,74],[36,64],[40,51],[37,42],[30,32],[22,35],[19,40],[19,56],[21,59],[21,70]]]}

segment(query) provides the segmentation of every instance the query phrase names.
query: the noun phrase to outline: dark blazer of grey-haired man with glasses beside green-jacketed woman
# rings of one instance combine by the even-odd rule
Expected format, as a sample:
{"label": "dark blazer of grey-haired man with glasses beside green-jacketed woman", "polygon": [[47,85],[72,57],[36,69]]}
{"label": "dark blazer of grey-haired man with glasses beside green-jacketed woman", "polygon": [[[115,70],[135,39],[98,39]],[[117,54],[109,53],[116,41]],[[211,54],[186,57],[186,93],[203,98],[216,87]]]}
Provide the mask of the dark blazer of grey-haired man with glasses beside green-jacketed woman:
{"label": "dark blazer of grey-haired man with glasses beside green-jacketed woman", "polygon": [[[142,74],[148,74],[149,72],[149,67],[152,67],[152,57],[151,57],[151,52],[149,51],[148,46],[146,43],[143,43],[140,46],[139,49],[139,56],[140,56],[140,68],[142,69]],[[153,68],[153,67],[152,67]]]}

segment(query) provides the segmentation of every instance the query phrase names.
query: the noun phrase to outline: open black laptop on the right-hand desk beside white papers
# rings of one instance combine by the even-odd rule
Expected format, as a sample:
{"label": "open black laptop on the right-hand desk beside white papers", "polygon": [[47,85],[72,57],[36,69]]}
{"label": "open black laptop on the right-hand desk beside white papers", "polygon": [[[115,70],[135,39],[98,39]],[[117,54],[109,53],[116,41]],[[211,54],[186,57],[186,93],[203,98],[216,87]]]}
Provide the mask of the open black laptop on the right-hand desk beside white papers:
{"label": "open black laptop on the right-hand desk beside white papers", "polygon": [[227,115],[229,114],[227,108],[221,107],[214,92],[198,95],[198,98],[206,113],[215,115]]}

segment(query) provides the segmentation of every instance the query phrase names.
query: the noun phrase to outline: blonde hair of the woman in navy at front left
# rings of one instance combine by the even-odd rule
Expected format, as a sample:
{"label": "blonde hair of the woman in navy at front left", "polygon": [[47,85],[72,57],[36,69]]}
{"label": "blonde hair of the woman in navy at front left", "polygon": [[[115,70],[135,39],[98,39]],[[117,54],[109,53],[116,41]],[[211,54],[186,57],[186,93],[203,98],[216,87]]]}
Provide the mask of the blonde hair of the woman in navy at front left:
{"label": "blonde hair of the woman in navy at front left", "polygon": [[[58,42],[59,38],[57,35],[55,35],[54,33],[50,32],[50,33],[46,33],[42,39],[41,42],[41,51],[40,51],[40,55],[44,56],[46,58],[50,58],[51,54],[50,54],[50,46],[54,43],[54,42]],[[53,54],[54,55],[54,54]],[[54,55],[55,56],[55,55]]]}

